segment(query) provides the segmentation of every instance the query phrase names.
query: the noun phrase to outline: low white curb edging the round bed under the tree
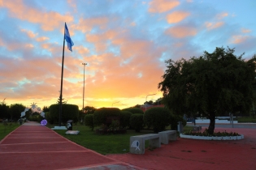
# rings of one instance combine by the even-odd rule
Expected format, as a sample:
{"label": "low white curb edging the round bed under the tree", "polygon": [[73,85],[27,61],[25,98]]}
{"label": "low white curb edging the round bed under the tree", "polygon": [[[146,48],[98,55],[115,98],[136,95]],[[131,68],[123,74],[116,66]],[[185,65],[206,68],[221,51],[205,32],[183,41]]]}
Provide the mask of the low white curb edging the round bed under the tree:
{"label": "low white curb edging the round bed under the tree", "polygon": [[244,135],[241,134],[239,136],[195,136],[195,135],[187,135],[187,134],[180,134],[180,138],[192,138],[192,139],[201,139],[201,140],[241,140],[244,138]]}

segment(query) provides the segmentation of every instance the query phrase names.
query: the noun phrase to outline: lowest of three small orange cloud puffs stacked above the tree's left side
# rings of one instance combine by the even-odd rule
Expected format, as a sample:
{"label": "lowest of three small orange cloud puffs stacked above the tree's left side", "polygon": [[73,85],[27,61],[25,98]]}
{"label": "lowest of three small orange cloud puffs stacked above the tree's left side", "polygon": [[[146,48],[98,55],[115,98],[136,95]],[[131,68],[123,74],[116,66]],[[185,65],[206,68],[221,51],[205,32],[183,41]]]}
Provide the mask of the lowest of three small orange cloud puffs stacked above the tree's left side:
{"label": "lowest of three small orange cloud puffs stacked above the tree's left side", "polygon": [[184,38],[186,36],[195,36],[197,35],[196,28],[188,28],[188,27],[171,27],[168,28],[165,32],[167,35],[174,36],[176,38]]}

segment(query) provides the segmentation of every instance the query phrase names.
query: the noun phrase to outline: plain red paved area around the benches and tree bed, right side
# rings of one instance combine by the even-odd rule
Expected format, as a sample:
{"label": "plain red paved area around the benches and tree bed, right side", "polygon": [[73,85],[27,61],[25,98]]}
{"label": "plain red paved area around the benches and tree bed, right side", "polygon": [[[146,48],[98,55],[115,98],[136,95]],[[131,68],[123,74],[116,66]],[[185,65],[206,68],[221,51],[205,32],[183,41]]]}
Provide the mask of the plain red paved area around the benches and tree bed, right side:
{"label": "plain red paved area around the benches and tree bed, right side", "polygon": [[176,142],[161,145],[145,155],[107,155],[145,169],[256,169],[256,130],[221,129],[215,131],[238,132],[245,138],[236,141],[204,141],[178,138]]}

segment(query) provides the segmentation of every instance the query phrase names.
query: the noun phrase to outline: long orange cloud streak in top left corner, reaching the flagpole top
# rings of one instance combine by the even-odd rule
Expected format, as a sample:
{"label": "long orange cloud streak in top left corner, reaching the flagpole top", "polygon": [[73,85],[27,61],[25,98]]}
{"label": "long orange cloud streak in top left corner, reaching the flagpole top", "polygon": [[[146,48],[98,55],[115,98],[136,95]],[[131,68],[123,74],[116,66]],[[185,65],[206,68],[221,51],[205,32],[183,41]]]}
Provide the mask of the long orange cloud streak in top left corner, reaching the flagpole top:
{"label": "long orange cloud streak in top left corner, reaching the flagpole top", "polygon": [[33,8],[25,6],[20,0],[2,1],[1,7],[9,10],[11,17],[17,19],[28,20],[31,23],[41,23],[41,28],[45,31],[54,30],[54,28],[63,27],[63,23],[72,22],[72,15],[60,15],[54,11],[37,11]]}

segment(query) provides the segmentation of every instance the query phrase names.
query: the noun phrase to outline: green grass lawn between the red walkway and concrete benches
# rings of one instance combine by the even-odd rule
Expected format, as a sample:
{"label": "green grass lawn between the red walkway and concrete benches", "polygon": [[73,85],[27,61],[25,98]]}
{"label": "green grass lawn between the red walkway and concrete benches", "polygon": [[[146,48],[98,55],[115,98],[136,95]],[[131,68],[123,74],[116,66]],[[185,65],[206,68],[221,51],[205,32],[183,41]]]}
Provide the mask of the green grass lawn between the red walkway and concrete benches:
{"label": "green grass lawn between the red walkway and concrete benches", "polygon": [[[95,128],[97,129],[97,128]],[[94,129],[94,130],[95,130]],[[192,130],[193,127],[185,126],[184,131]],[[65,134],[67,130],[55,130],[64,138],[76,142],[77,144],[97,151],[102,155],[106,154],[122,154],[129,152],[130,137],[141,134],[152,134],[152,130],[141,130],[140,133],[135,130],[128,130],[126,134],[95,134],[85,125],[73,125],[73,130],[79,130],[77,135]],[[168,128],[167,130],[170,130]],[[148,147],[148,141],[145,141],[145,148]]]}

